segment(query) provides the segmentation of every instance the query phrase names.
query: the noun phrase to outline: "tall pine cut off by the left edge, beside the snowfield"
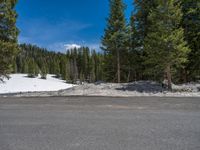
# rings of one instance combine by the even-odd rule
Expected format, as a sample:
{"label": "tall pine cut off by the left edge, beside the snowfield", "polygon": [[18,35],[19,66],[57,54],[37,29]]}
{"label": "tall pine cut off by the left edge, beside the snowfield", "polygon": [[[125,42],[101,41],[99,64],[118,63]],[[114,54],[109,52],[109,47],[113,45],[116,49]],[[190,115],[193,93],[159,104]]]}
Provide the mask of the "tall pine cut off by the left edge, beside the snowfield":
{"label": "tall pine cut off by the left edge, beside the snowfield", "polygon": [[0,78],[12,71],[12,62],[17,54],[17,14],[14,10],[17,0],[0,1]]}

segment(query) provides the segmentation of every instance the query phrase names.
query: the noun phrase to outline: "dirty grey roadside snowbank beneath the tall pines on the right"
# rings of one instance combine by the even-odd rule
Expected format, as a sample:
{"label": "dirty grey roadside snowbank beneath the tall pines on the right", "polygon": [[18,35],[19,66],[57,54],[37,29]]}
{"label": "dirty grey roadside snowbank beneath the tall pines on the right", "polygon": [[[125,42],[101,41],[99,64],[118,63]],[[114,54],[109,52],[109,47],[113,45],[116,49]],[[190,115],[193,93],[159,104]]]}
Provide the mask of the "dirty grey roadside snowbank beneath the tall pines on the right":
{"label": "dirty grey roadside snowbank beneath the tall pines on the right", "polygon": [[153,81],[137,81],[133,83],[97,83],[83,84],[68,90],[63,90],[58,95],[80,95],[80,96],[113,96],[113,97],[135,97],[135,96],[158,96],[158,97],[200,97],[200,84],[189,83],[173,85],[174,91],[163,90],[161,84]]}

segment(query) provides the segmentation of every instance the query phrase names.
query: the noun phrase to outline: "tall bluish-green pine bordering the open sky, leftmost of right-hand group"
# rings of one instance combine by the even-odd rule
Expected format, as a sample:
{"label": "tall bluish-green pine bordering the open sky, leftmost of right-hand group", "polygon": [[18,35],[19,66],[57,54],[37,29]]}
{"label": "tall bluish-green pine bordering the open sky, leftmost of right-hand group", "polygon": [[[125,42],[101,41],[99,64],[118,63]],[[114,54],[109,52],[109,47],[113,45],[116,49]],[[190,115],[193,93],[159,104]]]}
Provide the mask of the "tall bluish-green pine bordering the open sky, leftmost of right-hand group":
{"label": "tall bluish-green pine bordering the open sky, leftmost of right-hand group", "polygon": [[110,14],[102,38],[105,53],[105,76],[107,80],[121,82],[121,68],[126,53],[127,26],[122,0],[110,0]]}

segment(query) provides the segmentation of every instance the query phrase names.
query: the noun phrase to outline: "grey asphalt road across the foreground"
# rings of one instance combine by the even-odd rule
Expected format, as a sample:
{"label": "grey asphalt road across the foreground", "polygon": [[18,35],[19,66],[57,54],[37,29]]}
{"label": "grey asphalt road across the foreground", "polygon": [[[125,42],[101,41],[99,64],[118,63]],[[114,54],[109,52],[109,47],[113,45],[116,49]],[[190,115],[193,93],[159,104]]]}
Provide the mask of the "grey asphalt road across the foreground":
{"label": "grey asphalt road across the foreground", "polygon": [[200,98],[0,98],[0,150],[199,150]]}

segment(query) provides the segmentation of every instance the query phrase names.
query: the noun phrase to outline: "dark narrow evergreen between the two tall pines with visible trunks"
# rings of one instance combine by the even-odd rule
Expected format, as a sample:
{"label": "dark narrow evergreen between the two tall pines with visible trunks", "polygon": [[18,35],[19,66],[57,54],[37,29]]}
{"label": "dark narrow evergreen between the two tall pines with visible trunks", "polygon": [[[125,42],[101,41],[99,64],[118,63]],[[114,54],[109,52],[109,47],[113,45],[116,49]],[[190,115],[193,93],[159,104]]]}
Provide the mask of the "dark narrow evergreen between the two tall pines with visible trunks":
{"label": "dark narrow evergreen between the two tall pines with visible trunks", "polygon": [[152,9],[157,6],[157,0],[134,0],[134,11],[131,15],[132,47],[129,56],[132,57],[130,80],[144,80],[148,77],[145,74],[146,65],[144,60],[144,40],[148,34],[148,27],[151,22],[148,16]]}

